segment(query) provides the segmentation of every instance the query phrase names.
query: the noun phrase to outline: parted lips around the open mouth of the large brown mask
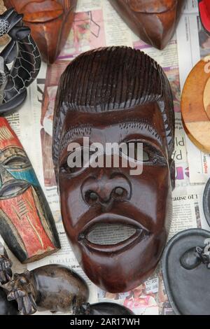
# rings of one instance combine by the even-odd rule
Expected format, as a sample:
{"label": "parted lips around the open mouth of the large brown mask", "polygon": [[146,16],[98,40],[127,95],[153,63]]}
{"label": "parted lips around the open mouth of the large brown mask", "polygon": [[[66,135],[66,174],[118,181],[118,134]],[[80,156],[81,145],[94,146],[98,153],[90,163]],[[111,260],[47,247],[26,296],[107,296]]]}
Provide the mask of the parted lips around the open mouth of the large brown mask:
{"label": "parted lips around the open mouth of the large brown mask", "polygon": [[[88,234],[91,230],[99,224],[111,224],[111,225],[126,225],[130,226],[135,229],[134,235],[125,239],[124,241],[120,241],[117,244],[94,244],[87,239]],[[122,248],[127,248],[127,246],[131,246],[135,244],[137,241],[141,241],[144,237],[150,235],[149,232],[144,226],[137,221],[134,221],[132,218],[128,218],[125,216],[120,216],[116,214],[104,214],[97,218],[94,218],[92,221],[87,223],[83,228],[83,232],[80,232],[78,235],[78,241],[83,246],[87,247],[88,249],[98,252],[98,253],[117,253],[121,251]]]}

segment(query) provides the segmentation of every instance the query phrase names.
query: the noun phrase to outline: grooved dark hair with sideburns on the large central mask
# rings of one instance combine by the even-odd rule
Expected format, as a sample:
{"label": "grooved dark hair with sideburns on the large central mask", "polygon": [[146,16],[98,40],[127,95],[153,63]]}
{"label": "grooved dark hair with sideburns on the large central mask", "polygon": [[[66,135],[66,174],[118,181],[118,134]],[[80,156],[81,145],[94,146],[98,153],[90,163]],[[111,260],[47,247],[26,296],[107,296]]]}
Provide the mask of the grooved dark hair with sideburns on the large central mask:
{"label": "grooved dark hair with sideburns on the large central mask", "polygon": [[99,48],[76,57],[59,80],[52,137],[55,167],[67,112],[125,111],[149,102],[158,102],[171,157],[174,150],[172,91],[157,62],[144,52],[128,47]]}

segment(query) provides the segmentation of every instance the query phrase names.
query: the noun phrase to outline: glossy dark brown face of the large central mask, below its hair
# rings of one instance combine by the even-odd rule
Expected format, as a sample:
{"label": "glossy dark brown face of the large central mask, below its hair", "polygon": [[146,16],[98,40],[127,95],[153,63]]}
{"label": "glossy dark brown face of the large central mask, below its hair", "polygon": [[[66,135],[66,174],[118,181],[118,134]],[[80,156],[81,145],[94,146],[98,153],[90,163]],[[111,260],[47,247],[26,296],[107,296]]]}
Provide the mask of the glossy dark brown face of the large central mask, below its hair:
{"label": "glossy dark brown face of the large central mask, below its hair", "polygon": [[[155,103],[116,113],[69,112],[64,120],[66,146],[59,160],[64,226],[87,276],[110,292],[138,286],[155,269],[165,246],[172,205],[162,131]],[[132,176],[123,167],[69,168],[67,146],[81,142],[83,148],[82,137],[104,148],[106,143],[142,141],[147,155],[143,173]],[[88,235],[99,224],[122,224],[136,231],[118,244],[93,244]]]}

